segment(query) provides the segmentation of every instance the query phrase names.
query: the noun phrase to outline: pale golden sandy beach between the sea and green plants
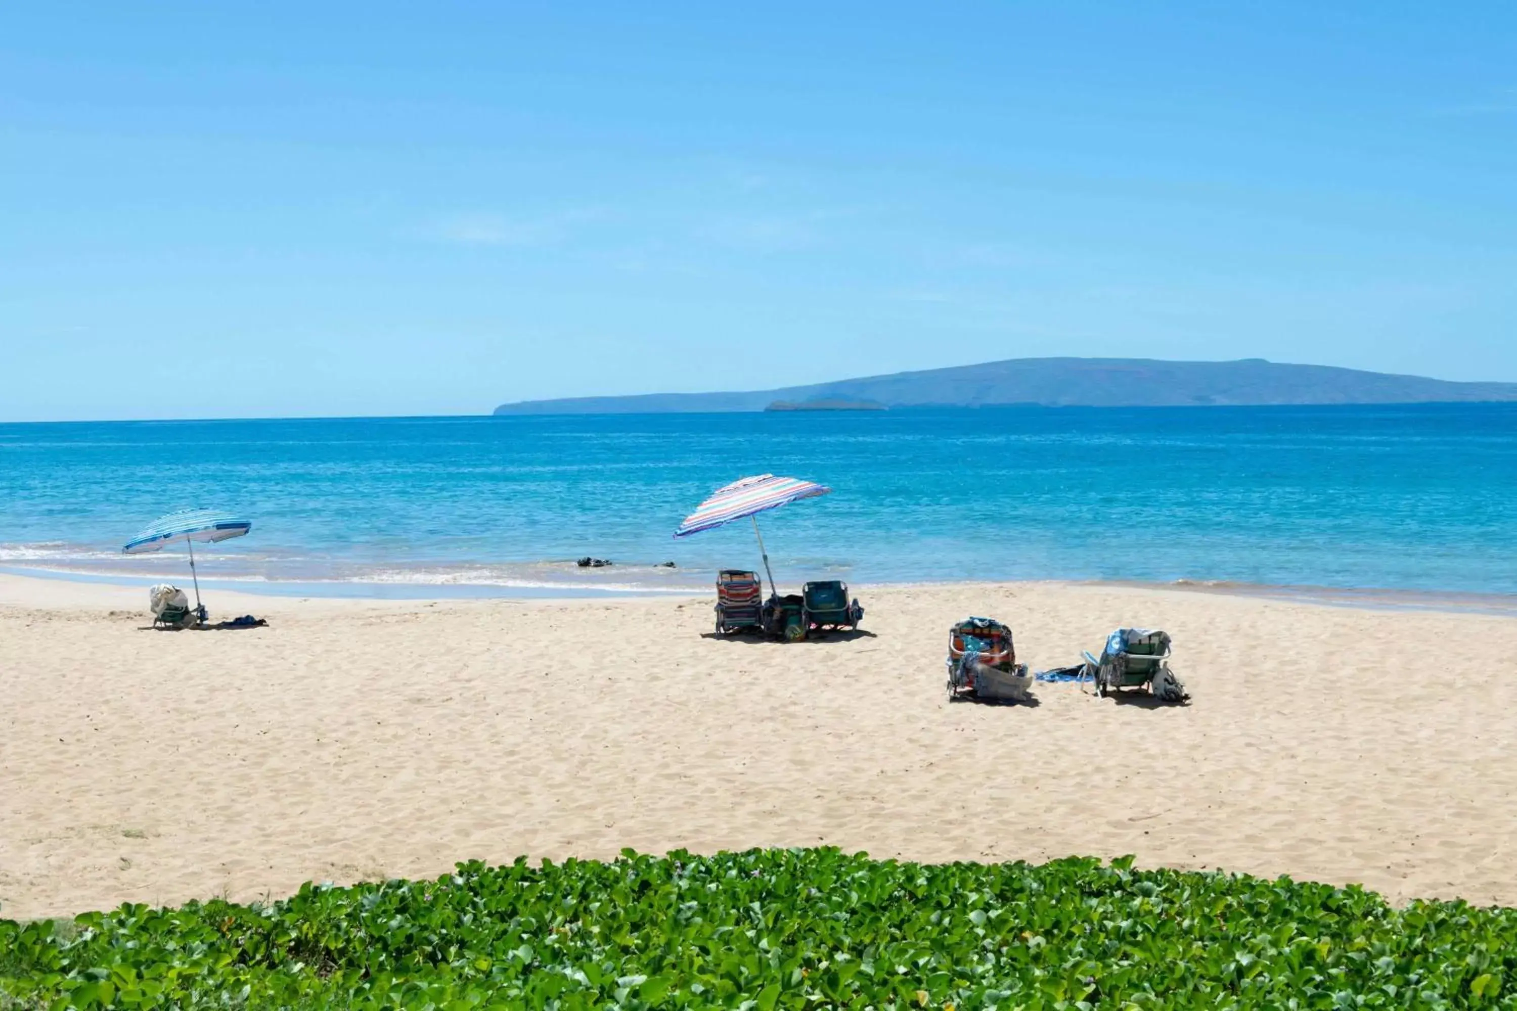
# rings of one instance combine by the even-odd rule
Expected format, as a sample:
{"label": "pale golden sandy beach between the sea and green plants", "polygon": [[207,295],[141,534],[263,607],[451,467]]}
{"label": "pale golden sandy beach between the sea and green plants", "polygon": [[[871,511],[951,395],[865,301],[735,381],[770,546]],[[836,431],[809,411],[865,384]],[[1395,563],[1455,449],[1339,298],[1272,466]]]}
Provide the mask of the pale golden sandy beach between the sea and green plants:
{"label": "pale golden sandy beach between the sea and green plants", "polygon": [[[208,594],[0,577],[0,916],[282,896],[479,858],[833,844],[1517,903],[1517,618],[1109,585],[856,588],[866,634],[722,641],[708,599]],[[1168,629],[1183,709],[945,699],[948,626],[1035,668]]]}

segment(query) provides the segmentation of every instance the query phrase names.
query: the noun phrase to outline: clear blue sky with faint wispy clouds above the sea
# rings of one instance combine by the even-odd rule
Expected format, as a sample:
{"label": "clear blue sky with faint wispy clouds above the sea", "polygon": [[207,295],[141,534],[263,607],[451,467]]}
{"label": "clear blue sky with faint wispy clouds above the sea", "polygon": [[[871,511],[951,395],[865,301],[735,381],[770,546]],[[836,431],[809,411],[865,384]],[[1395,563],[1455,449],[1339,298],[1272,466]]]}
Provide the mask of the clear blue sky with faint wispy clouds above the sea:
{"label": "clear blue sky with faint wispy clouds above the sea", "polygon": [[0,420],[1517,380],[1514,279],[1509,3],[0,5]]}

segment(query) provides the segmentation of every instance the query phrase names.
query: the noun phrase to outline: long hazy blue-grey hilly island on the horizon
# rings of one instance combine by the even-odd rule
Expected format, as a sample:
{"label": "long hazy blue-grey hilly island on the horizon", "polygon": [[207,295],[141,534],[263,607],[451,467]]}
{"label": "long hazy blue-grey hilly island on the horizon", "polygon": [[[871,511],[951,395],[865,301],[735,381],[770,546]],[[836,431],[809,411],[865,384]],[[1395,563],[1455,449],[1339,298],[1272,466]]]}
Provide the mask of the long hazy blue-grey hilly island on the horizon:
{"label": "long hazy blue-grey hilly island on the horizon", "polygon": [[[751,393],[655,393],[631,397],[523,400],[504,403],[495,412],[502,415],[667,414],[1010,405],[1161,408],[1482,400],[1517,400],[1517,383],[1447,382],[1329,365],[1285,365],[1262,358],[1233,362],[1013,358],[983,365],[957,365]],[[828,402],[874,406],[804,406]]]}

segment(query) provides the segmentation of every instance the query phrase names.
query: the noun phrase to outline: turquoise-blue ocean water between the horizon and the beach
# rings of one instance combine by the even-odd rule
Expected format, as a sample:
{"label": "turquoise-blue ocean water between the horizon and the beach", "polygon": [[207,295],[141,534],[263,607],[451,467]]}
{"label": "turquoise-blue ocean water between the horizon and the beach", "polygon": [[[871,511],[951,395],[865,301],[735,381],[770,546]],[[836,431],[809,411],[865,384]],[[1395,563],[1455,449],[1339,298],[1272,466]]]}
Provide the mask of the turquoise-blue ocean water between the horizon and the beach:
{"label": "turquoise-blue ocean water between the horizon and the beach", "polygon": [[218,506],[253,532],[200,571],[250,590],[702,587],[758,567],[752,531],[675,526],[765,471],[834,490],[760,520],[783,585],[1517,594],[1517,405],[0,424],[0,567],[182,581],[120,546]]}

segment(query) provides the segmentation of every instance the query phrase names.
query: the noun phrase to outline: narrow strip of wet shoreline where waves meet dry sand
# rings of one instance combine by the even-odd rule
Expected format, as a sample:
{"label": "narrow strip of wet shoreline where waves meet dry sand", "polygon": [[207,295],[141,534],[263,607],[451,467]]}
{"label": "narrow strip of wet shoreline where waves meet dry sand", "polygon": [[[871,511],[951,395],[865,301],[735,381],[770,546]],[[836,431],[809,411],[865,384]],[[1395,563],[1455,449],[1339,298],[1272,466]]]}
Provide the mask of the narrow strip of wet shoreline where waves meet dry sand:
{"label": "narrow strip of wet shoreline where waves meet dry sand", "polygon": [[[630,571],[628,565],[622,571]],[[637,567],[643,568],[643,567]],[[604,571],[604,570],[602,570]],[[680,574],[684,574],[684,570]],[[622,573],[616,573],[622,574]],[[67,568],[39,568],[30,565],[0,564],[0,579],[32,579],[38,582],[64,582],[80,585],[129,587],[146,590],[158,582],[174,582],[182,577],[173,574],[132,576],[127,573],[94,573]],[[636,577],[636,576],[634,576]],[[1435,611],[1447,614],[1488,614],[1497,617],[1517,617],[1517,594],[1467,593],[1458,590],[1399,590],[1385,587],[1323,587],[1323,585],[1276,585],[1248,584],[1238,581],[1204,581],[1176,579],[1170,582],[1144,582],[1136,579],[913,579],[897,582],[851,582],[854,590],[910,590],[931,587],[1126,587],[1132,590],[1171,590],[1177,593],[1217,594],[1235,597],[1255,597],[1265,600],[1282,600],[1311,603],[1321,606],[1362,608],[1371,611]],[[798,585],[798,584],[796,584]],[[485,582],[405,582],[382,581],[367,582],[361,579],[238,579],[238,577],[202,577],[202,590],[214,593],[235,593],[261,599],[306,600],[394,600],[394,602],[428,602],[428,600],[633,600],[633,599],[681,599],[711,596],[710,585],[586,585],[584,582],[522,582],[522,584],[485,584]],[[187,587],[181,587],[187,588]]]}

